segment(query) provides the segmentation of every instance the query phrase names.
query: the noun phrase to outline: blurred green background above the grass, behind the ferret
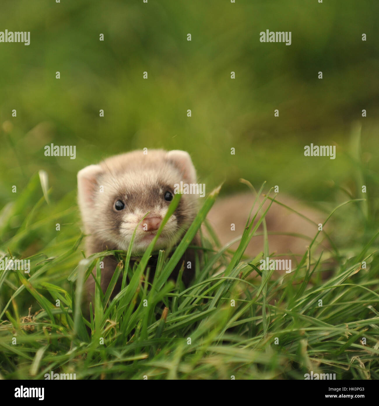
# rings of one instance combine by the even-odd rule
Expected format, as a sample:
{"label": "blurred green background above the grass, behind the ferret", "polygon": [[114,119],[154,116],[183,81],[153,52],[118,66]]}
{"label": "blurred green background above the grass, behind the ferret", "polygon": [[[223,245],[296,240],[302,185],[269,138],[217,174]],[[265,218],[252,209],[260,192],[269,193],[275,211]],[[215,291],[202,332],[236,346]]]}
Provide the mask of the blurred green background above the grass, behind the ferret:
{"label": "blurred green background above the grass, behind the ferret", "polygon": [[[191,153],[208,192],[244,177],[334,202],[340,187],[362,197],[361,172],[377,202],[378,12],[353,0],[3,1],[0,30],[30,31],[30,45],[0,43],[0,203],[44,169],[52,199],[74,204],[79,169],[143,147]],[[266,29],[292,44],[261,43]],[[45,157],[50,143],[76,145],[76,159]],[[335,144],[336,159],[304,157],[310,143]]]}

